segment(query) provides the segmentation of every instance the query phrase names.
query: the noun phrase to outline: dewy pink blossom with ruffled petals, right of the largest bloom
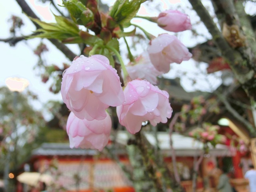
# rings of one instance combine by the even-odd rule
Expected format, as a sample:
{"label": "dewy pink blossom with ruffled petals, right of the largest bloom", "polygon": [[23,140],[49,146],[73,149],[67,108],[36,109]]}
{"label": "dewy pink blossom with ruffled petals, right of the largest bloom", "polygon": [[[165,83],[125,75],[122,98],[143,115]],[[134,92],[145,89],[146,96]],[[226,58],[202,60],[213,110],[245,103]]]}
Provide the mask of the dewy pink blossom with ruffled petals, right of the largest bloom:
{"label": "dewy pink blossom with ruffled petals, right of the largest bloom", "polygon": [[116,107],[116,113],[120,124],[131,134],[139,132],[144,121],[149,120],[156,126],[159,122],[166,123],[172,116],[169,94],[146,80],[128,82],[124,98],[124,103]]}

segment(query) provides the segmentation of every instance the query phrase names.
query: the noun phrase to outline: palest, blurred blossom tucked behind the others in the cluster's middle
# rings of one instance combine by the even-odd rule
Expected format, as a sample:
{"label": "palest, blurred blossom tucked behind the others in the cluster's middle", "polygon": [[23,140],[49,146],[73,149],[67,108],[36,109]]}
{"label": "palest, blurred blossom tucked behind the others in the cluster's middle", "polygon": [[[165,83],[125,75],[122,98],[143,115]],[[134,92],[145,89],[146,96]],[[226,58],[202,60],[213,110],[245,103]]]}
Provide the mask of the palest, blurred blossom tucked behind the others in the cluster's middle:
{"label": "palest, blurred blossom tucked behind the others in the cluster's middle", "polygon": [[132,80],[136,78],[145,79],[152,84],[157,84],[157,76],[163,74],[156,70],[150,62],[148,52],[143,52],[135,59],[135,62],[130,62],[126,66],[126,70]]}

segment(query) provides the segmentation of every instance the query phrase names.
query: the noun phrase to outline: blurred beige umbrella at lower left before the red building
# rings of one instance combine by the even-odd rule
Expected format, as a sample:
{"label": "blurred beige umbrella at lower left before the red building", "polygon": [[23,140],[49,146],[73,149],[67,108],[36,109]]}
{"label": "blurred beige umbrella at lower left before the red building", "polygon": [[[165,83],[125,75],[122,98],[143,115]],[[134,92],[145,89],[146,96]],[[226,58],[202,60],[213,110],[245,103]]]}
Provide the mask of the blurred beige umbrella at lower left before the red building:
{"label": "blurred beige umbrella at lower left before the red building", "polygon": [[44,182],[46,185],[50,185],[53,182],[52,176],[38,172],[23,172],[17,176],[17,180],[30,186],[38,186],[39,182]]}

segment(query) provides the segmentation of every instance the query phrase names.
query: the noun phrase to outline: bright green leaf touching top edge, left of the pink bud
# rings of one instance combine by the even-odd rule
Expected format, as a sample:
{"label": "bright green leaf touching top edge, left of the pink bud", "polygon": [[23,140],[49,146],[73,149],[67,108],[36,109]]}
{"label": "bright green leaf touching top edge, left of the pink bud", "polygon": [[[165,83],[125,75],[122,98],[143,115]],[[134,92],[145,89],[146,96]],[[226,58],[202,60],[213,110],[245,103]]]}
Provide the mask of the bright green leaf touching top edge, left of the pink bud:
{"label": "bright green leaf touching top edge, left of the pink bud", "polygon": [[146,0],[117,0],[110,10],[110,16],[118,24],[127,24],[138,12],[140,5]]}

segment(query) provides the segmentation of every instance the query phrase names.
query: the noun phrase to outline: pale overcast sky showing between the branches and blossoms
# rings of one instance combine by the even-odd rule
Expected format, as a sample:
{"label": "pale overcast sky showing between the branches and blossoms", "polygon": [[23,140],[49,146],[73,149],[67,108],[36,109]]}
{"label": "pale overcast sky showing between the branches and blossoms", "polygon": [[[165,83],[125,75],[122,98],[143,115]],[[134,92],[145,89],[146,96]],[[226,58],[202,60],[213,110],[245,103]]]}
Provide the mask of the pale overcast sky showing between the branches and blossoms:
{"label": "pale overcast sky showing between the branches and blossoms", "polygon": [[[39,0],[27,0],[27,2],[28,4],[32,5],[32,8],[35,12],[37,12],[38,16],[42,20],[46,22],[54,22],[54,17],[51,11],[55,14],[57,14],[57,12],[53,8],[51,8],[50,10],[48,3],[42,4]],[[55,0],[55,2],[61,4],[61,0]],[[114,0],[102,0],[102,2],[109,3],[111,6],[114,3]],[[175,9],[176,7],[178,7],[178,10],[186,12],[186,14],[190,16],[192,24],[199,20],[194,11],[190,11],[185,8],[187,5],[189,5],[187,0],[162,0],[161,2],[161,10],[166,10],[170,8]],[[208,0],[204,1],[204,3],[206,6],[211,8]],[[20,16],[25,23],[25,25],[21,28],[19,34],[28,35],[31,34],[33,30],[35,30],[32,22],[30,22],[30,20],[26,16],[24,16],[24,14],[22,14],[20,7],[15,0],[0,1],[0,7],[0,38],[10,37],[9,29],[11,26],[11,22],[9,22],[8,19],[10,19],[11,15]],[[246,11],[250,14],[253,14],[255,10],[255,6],[252,6],[251,4],[246,6]],[[138,14],[149,13],[151,14],[151,16],[158,16],[158,11],[155,11],[153,8],[148,10],[142,4],[142,7],[140,8]],[[152,24],[142,19],[134,19],[132,22],[136,22],[136,24],[142,25],[155,36],[158,36],[158,34],[161,33],[166,33],[166,31],[158,28],[156,24]],[[210,35],[207,33],[207,30],[204,28],[203,25],[197,27],[200,28],[200,31],[203,32],[206,37],[210,38]],[[190,31],[180,32],[178,34],[178,38],[188,47],[194,46],[197,41],[204,41],[203,38],[197,40],[193,39]],[[43,40],[43,42],[47,44],[47,47],[49,49],[49,51],[44,54],[44,60],[46,60],[48,64],[56,64],[61,66],[63,62],[70,63],[70,61],[66,59],[65,56],[60,53],[60,51],[56,50],[56,48],[52,44],[50,44],[48,40]],[[38,74],[36,73],[36,71],[33,70],[33,67],[38,61],[38,57],[34,55],[33,50],[36,48],[36,46],[38,46],[39,43],[40,39],[33,39],[19,42],[18,44],[16,44],[16,46],[12,47],[7,43],[0,42],[0,59],[2,66],[2,70],[0,70],[0,86],[6,86],[5,80],[8,77],[20,77],[28,79],[30,82],[28,89],[38,94],[39,96],[40,103],[34,104],[36,108],[40,108],[42,104],[47,102],[48,100],[61,100],[60,94],[56,95],[48,91],[51,82],[48,82],[47,84],[42,83],[40,77],[37,76]],[[79,50],[76,45],[68,46],[75,54],[79,54]],[[142,49],[143,48],[141,48],[140,50],[141,52],[143,51]],[[138,52],[139,51],[137,50],[136,53]],[[127,61],[126,59],[124,60]],[[202,83],[204,82],[203,76],[198,75],[198,83],[196,84],[196,87],[191,86],[191,81],[189,80],[189,78],[192,77],[192,74],[194,74],[194,72],[197,72],[195,68],[195,62],[193,62],[192,60],[188,62],[182,62],[182,64],[180,65],[172,64],[171,66],[172,70],[168,73],[169,78],[175,78],[177,76],[177,70],[188,71],[188,74],[184,76],[181,81],[182,85],[187,91],[192,91],[199,88],[209,91],[208,85]],[[206,66],[207,65],[203,65],[202,70],[205,70]],[[219,76],[219,74],[217,75]],[[215,88],[220,84],[220,81],[216,80],[213,77],[210,78],[210,81],[212,82],[212,86]]]}

